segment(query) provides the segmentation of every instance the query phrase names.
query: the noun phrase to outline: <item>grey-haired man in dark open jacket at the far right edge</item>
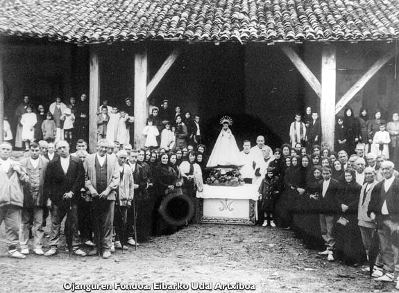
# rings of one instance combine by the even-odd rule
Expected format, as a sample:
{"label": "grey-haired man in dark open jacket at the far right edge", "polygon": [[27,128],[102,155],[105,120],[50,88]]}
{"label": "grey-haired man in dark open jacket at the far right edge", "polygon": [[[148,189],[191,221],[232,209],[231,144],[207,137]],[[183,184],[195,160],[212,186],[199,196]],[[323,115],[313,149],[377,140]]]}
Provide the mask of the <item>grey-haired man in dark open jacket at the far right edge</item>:
{"label": "grey-haired man in dark open jacket at the far right edge", "polygon": [[[384,275],[375,281],[392,282],[399,274],[399,179],[393,176],[393,163],[381,163],[384,180],[375,185],[368,204],[367,215],[379,227],[378,237]],[[396,288],[399,289],[399,280]]]}

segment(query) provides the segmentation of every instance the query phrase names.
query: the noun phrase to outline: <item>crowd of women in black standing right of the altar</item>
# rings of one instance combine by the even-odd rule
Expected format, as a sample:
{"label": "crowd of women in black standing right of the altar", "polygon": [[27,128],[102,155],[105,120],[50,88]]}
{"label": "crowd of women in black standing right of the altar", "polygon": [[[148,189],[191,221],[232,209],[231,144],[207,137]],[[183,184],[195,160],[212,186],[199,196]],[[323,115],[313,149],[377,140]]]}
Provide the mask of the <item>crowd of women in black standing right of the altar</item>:
{"label": "crowd of women in black standing right of the altar", "polygon": [[[355,170],[343,170],[343,164],[336,154],[327,149],[322,150],[319,145],[315,145],[307,153],[303,148],[291,150],[291,146],[285,144],[275,149],[274,154],[276,159],[270,166],[274,167],[280,188],[275,200],[276,224],[283,229],[293,229],[308,247],[323,247],[319,221],[321,210],[318,202],[309,196],[316,193],[319,182],[323,180],[322,167],[328,166],[332,170],[331,177],[341,184],[336,205],[333,207],[337,220],[339,216],[349,220],[345,227],[335,224],[334,258],[348,264],[363,263],[366,254],[357,226],[357,208],[362,186],[355,180]],[[343,211],[342,205],[348,208]]]}

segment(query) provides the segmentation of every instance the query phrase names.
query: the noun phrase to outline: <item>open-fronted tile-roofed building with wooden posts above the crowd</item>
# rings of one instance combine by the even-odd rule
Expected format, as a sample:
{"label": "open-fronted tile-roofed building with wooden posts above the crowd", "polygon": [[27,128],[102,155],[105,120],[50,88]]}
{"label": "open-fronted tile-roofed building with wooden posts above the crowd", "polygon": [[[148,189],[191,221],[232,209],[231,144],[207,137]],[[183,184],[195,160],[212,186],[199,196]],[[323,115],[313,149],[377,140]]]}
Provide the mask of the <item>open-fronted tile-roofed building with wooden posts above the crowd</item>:
{"label": "open-fronted tile-roofed building with wooden posts above the crowd", "polygon": [[[295,112],[319,109],[323,143],[350,106],[399,110],[395,0],[9,0],[0,8],[0,132],[24,96],[47,107],[133,100],[142,147],[148,100],[199,114],[209,142],[230,115],[237,141],[289,140]],[[65,102],[67,103],[67,102]],[[15,126],[14,126],[15,127]]]}

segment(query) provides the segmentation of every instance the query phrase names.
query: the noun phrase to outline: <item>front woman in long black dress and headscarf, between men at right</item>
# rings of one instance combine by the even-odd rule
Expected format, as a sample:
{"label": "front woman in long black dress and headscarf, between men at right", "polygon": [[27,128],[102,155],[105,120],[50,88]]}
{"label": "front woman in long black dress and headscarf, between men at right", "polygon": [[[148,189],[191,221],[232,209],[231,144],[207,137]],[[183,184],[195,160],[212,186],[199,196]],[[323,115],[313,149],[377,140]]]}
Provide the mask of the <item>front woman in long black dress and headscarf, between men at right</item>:
{"label": "front woman in long black dress and headscarf, between men at right", "polygon": [[362,235],[357,225],[357,208],[362,186],[356,182],[355,170],[346,169],[344,177],[345,183],[341,188],[337,203],[340,217],[333,230],[334,258],[341,258],[345,263],[353,265],[366,260]]}

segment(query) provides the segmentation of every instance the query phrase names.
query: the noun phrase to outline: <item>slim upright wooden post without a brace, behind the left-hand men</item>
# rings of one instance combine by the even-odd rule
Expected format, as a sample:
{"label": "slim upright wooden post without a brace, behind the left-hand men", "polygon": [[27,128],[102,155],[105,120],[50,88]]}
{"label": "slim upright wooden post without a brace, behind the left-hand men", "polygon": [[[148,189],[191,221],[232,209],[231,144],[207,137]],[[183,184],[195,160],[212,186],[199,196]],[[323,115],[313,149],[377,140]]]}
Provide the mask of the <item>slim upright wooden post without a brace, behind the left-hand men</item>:
{"label": "slim upright wooden post without a brace, behind the left-hand men", "polygon": [[89,147],[96,152],[97,144],[97,111],[100,103],[100,67],[99,54],[90,48],[90,95],[89,95]]}

